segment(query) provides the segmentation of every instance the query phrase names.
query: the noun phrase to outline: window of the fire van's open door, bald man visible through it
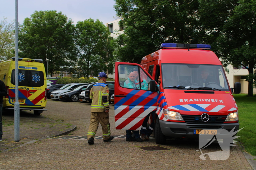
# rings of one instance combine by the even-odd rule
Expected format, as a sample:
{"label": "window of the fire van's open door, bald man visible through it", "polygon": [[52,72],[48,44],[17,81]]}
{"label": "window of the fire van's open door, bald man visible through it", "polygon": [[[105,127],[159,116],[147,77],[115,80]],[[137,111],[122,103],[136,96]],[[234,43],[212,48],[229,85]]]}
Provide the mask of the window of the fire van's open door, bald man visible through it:
{"label": "window of the fire van's open door, bald man visible through it", "polygon": [[[123,70],[126,70],[127,74],[122,74]],[[118,76],[121,87],[132,89],[148,90],[151,80],[140,67],[134,65],[119,65]]]}

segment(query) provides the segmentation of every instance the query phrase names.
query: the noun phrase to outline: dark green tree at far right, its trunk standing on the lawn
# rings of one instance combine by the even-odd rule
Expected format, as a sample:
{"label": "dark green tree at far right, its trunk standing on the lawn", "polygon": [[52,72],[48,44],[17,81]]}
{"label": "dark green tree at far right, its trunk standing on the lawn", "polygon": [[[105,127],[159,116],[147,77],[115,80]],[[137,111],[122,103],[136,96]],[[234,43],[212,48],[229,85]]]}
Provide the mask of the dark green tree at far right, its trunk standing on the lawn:
{"label": "dark green tree at far right, its trunk standing on the lawn", "polygon": [[[224,67],[232,64],[248,70],[248,96],[253,96],[253,87],[256,87],[256,72],[253,71],[256,67],[256,1],[200,0],[199,3],[201,22],[210,34],[217,34],[212,39],[214,52]],[[208,22],[209,18],[212,22]]]}

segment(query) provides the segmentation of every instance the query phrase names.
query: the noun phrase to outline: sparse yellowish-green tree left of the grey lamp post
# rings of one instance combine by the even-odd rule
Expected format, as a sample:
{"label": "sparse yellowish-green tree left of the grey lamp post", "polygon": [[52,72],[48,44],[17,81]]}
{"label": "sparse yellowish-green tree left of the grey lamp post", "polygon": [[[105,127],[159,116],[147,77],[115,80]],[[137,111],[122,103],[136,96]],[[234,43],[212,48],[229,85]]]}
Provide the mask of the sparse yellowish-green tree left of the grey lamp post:
{"label": "sparse yellowish-green tree left of the grey lamp post", "polygon": [[0,22],[0,59],[15,57],[15,22],[7,23],[7,18]]}

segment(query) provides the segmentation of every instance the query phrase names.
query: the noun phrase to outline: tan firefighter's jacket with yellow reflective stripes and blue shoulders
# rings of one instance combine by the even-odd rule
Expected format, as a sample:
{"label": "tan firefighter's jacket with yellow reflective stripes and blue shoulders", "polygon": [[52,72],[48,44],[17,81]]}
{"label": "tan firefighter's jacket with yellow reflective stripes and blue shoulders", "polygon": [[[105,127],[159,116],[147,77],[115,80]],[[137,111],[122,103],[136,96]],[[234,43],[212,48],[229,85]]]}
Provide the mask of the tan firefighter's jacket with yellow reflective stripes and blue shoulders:
{"label": "tan firefighter's jacket with yellow reflective stripes and blue shoulders", "polygon": [[90,91],[91,112],[104,112],[109,109],[109,87],[103,80],[94,84]]}

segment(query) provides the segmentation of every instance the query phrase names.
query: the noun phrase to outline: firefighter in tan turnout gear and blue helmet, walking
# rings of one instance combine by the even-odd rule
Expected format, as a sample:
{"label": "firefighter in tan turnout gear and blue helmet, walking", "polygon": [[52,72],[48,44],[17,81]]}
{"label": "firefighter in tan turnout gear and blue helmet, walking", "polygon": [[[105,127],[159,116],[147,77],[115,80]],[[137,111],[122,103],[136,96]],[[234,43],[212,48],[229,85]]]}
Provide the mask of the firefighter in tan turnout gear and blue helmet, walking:
{"label": "firefighter in tan turnout gear and blue helmet, walking", "polygon": [[105,84],[107,78],[106,73],[100,72],[98,74],[98,83],[91,88],[91,122],[87,133],[87,139],[90,145],[94,144],[94,136],[97,132],[99,123],[102,127],[103,141],[108,142],[114,139],[113,136],[110,136],[109,87]]}

